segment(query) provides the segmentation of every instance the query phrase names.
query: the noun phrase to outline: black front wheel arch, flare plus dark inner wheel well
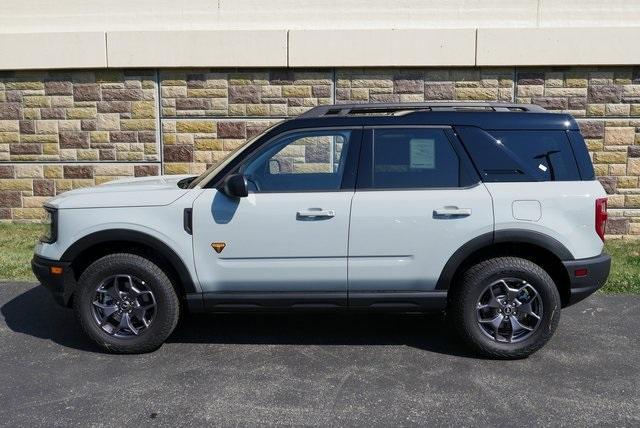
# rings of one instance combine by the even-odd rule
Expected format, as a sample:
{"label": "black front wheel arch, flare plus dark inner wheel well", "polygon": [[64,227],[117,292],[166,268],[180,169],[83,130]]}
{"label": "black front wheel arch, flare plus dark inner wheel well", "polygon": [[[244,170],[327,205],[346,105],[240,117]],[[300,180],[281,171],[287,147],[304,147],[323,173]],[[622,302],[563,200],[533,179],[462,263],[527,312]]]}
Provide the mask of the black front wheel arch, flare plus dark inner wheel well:
{"label": "black front wheel arch, flare plus dark inner wheel well", "polygon": [[86,235],[72,244],[61,259],[71,262],[77,280],[94,261],[112,253],[132,253],[156,262],[171,279],[179,296],[197,292],[185,263],[167,244],[149,234],[109,229]]}

